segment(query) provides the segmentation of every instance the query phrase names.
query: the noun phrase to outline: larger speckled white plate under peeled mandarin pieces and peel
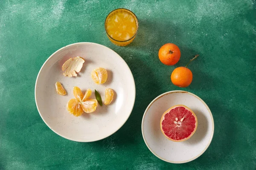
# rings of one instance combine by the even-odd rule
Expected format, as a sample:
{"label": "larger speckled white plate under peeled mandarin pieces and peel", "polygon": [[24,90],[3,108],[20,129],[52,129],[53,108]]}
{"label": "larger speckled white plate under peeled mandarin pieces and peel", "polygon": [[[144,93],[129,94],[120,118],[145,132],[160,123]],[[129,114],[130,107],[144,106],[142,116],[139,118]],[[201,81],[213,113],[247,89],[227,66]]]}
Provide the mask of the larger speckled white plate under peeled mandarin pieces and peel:
{"label": "larger speckled white plate under peeled mandarin pieces and peel", "polygon": [[[83,57],[85,62],[77,77],[64,77],[61,66],[71,57]],[[93,69],[103,67],[108,71],[108,80],[96,85]],[[55,82],[61,82],[67,95],[55,91]],[[73,87],[83,93],[90,88],[90,98],[95,99],[94,89],[105,99],[105,88],[115,92],[113,102],[98,105],[93,113],[75,117],[67,111],[67,102],[73,96]],[[53,53],[44,62],[35,83],[35,102],[42,119],[58,135],[78,142],[93,142],[115,133],[128,119],[135,101],[135,83],[130,68],[116,52],[108,47],[91,42],[67,45]]]}

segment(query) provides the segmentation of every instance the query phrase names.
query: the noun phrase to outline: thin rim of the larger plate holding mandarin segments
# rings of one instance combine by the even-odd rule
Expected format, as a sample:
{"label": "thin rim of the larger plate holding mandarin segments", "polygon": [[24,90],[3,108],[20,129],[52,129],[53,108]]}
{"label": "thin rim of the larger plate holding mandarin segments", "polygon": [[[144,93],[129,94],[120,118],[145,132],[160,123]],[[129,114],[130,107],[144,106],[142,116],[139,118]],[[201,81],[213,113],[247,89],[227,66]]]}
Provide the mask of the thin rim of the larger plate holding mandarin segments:
{"label": "thin rim of the larger plate holding mandarin segments", "polygon": [[129,119],[129,117],[131,116],[131,112],[133,111],[134,104],[135,104],[135,99],[136,99],[136,85],[135,85],[135,81],[134,81],[133,74],[132,74],[131,69],[130,69],[130,67],[128,66],[128,64],[125,62],[125,60],[124,60],[119,54],[116,53],[116,51],[113,51],[111,48],[108,48],[109,50],[113,51],[113,53],[117,54],[117,56],[118,56],[120,59],[122,59],[122,60],[124,61],[124,63],[127,65],[127,67],[129,68],[129,69],[128,69],[128,70],[129,70],[128,72],[131,74],[131,77],[132,77],[132,79],[133,79],[133,83],[132,83],[132,84],[133,84],[133,86],[134,86],[134,99],[133,99],[133,104],[132,104],[131,110],[129,111],[130,113],[129,113],[129,115],[127,116],[126,120],[124,121],[124,123],[123,123],[120,127],[118,127],[115,131],[113,131],[113,133],[110,133],[109,135],[103,136],[103,137],[101,137],[101,138],[99,138],[99,139],[96,139],[96,140],[74,140],[74,139],[69,138],[69,137],[67,137],[67,136],[65,136],[65,135],[61,135],[60,133],[56,132],[50,125],[48,125],[48,123],[44,120],[44,118],[43,118],[42,115],[41,115],[40,109],[38,108],[38,101],[37,101],[37,98],[36,98],[36,96],[37,96],[38,77],[39,77],[39,75],[41,74],[41,71],[43,70],[43,68],[45,67],[45,65],[47,64],[47,62],[49,62],[49,60],[52,58],[52,56],[54,56],[56,53],[58,53],[58,52],[61,51],[62,49],[67,48],[67,47],[70,47],[70,46],[74,46],[74,45],[79,45],[79,44],[94,44],[94,45],[102,46],[103,48],[108,48],[108,47],[105,46],[105,45],[101,45],[101,44],[94,43],[94,42],[76,42],[76,43],[73,43],[73,44],[65,45],[64,47],[62,47],[62,48],[58,49],[57,51],[55,51],[54,53],[52,53],[52,54],[47,58],[47,60],[44,62],[44,64],[41,66],[41,68],[40,68],[40,70],[39,70],[39,72],[38,72],[38,75],[37,75],[37,77],[36,77],[36,80],[35,80],[35,91],[34,91],[34,93],[35,93],[35,104],[36,104],[36,108],[37,108],[37,110],[38,110],[38,113],[39,113],[39,115],[41,116],[41,119],[43,119],[44,123],[45,123],[54,133],[56,133],[57,135],[59,135],[59,136],[65,138],[65,139],[68,139],[68,140],[71,140],[71,141],[75,141],[75,142],[95,142],[95,141],[99,141],[99,140],[105,139],[105,138],[107,138],[108,136],[111,136],[111,135],[113,135],[114,133],[116,133],[117,130],[119,130],[119,129],[125,124],[125,122],[127,122],[127,120]]}

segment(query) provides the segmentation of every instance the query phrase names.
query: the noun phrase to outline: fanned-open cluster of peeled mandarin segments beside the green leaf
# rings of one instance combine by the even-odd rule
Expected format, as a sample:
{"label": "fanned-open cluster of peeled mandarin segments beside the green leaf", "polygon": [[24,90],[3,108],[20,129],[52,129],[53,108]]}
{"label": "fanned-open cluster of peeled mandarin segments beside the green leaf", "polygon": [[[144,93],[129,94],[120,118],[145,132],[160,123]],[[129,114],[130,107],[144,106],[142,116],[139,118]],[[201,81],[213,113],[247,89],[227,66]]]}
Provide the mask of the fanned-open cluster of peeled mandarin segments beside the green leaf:
{"label": "fanned-open cluster of peeled mandarin segments beside the green leaf", "polygon": [[73,88],[75,99],[70,99],[67,102],[67,111],[74,116],[81,116],[81,114],[92,113],[96,110],[98,102],[96,99],[89,99],[92,94],[91,89],[87,89],[85,94],[82,93],[79,87]]}

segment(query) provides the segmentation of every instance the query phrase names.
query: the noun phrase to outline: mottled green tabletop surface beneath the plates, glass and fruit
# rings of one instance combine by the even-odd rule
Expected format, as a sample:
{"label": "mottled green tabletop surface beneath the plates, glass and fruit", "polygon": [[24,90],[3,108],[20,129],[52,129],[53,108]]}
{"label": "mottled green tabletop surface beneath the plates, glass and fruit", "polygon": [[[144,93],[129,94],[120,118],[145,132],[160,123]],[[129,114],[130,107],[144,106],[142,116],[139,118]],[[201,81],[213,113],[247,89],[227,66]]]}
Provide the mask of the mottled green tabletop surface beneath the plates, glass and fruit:
{"label": "mottled green tabletop surface beneath the plates, glass and fruit", "polygon": [[[116,8],[139,20],[134,42],[113,45],[104,21]],[[34,99],[44,61],[75,42],[96,42],[129,65],[136,102],[125,125],[106,139],[79,143],[44,124]],[[180,61],[163,65],[159,48],[179,46]],[[174,68],[200,56],[189,68],[193,82],[178,88]],[[0,1],[0,169],[256,169],[256,1],[255,0],[1,0]],[[198,159],[171,164],[154,156],[141,134],[145,108],[156,96],[185,90],[212,111],[215,133]]]}

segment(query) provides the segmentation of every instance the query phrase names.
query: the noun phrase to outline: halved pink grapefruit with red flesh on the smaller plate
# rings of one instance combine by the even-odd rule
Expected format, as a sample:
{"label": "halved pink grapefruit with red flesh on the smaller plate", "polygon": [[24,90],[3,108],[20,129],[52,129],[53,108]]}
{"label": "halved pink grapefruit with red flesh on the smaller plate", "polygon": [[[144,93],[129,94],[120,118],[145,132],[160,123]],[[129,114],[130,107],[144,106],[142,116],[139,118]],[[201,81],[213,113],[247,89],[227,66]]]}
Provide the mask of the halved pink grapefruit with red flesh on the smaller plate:
{"label": "halved pink grapefruit with red flesh on the smaller plate", "polygon": [[184,105],[175,105],[163,113],[160,127],[164,136],[174,142],[189,139],[196,130],[195,113]]}

